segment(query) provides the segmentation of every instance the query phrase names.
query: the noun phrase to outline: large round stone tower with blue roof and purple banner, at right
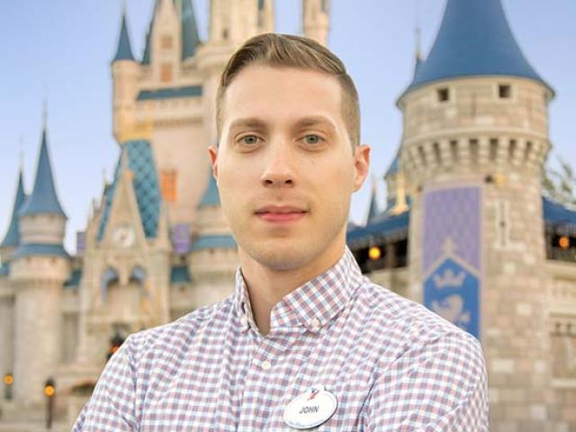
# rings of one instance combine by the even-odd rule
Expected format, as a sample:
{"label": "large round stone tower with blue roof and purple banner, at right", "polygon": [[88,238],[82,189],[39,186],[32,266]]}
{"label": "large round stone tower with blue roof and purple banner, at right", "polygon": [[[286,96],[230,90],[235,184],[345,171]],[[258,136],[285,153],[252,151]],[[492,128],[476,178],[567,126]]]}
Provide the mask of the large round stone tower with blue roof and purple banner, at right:
{"label": "large round stone tower with blue roof and purple banner, at right", "polygon": [[[554,92],[500,0],[447,0],[401,95],[410,296],[482,341],[491,430],[551,430],[541,175]],[[520,396],[519,396],[520,395]],[[548,403],[548,404],[547,404]]]}

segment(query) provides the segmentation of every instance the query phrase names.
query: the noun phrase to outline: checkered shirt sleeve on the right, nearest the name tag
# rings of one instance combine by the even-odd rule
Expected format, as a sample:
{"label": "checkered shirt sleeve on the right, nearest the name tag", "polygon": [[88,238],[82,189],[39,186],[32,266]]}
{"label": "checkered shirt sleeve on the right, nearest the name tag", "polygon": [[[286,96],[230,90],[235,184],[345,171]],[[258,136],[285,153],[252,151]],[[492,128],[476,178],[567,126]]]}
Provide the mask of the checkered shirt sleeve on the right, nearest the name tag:
{"label": "checkered shirt sleeve on the right, nearest the name tag", "polygon": [[488,431],[482,347],[458,331],[410,347],[378,377],[365,431]]}

